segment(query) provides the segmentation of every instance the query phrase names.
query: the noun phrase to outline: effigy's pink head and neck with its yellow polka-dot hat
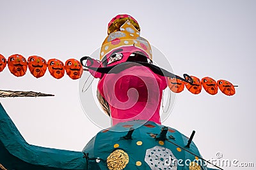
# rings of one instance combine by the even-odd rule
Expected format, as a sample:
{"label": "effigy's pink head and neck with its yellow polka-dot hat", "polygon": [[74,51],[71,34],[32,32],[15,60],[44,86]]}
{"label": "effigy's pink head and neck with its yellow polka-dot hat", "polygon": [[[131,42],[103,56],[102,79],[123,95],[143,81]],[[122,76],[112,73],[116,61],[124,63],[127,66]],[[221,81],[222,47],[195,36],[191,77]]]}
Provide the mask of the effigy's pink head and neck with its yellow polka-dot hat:
{"label": "effigy's pink head and neck with its yellow polka-dot hat", "polygon": [[152,50],[140,36],[138,22],[118,15],[109,22],[108,33],[100,49],[100,67],[111,67],[111,71],[102,74],[98,83],[100,105],[111,115],[113,125],[129,120],[161,124],[159,102],[166,80],[140,63],[152,64]]}

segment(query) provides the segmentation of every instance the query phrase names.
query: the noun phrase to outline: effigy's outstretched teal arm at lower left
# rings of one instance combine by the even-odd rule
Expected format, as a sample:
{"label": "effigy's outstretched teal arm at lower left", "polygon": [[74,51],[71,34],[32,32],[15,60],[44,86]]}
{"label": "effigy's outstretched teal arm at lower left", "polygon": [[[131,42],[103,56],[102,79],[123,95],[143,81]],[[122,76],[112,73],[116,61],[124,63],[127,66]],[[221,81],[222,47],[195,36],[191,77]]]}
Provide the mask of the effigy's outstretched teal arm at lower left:
{"label": "effigy's outstretched teal arm at lower left", "polygon": [[0,164],[6,169],[82,170],[87,164],[83,156],[82,152],[29,145],[0,103]]}

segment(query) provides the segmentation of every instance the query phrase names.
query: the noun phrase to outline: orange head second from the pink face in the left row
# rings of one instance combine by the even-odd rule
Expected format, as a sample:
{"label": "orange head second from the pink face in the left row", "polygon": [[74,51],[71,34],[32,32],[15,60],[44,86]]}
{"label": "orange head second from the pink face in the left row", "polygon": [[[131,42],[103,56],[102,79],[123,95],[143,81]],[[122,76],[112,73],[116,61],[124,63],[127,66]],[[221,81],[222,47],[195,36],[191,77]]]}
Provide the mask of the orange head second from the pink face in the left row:
{"label": "orange head second from the pink face in the left row", "polygon": [[50,59],[47,62],[49,72],[54,78],[60,79],[64,76],[65,69],[64,64],[61,60]]}

